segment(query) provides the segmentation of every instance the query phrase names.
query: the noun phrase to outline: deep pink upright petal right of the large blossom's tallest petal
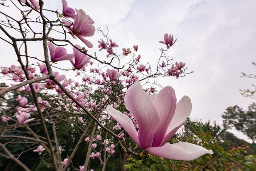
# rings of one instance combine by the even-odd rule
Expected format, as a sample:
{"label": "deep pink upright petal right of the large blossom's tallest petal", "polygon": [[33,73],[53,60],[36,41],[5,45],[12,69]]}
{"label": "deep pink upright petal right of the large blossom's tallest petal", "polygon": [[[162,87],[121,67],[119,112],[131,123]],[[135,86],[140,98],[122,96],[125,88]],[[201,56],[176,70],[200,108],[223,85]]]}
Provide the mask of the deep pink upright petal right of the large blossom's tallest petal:
{"label": "deep pink upright petal right of the large blossom's tallest petal", "polygon": [[166,135],[167,128],[175,113],[176,101],[175,90],[170,86],[164,87],[157,94],[154,100],[154,106],[157,108],[157,112],[160,116],[160,123],[154,134],[152,147],[158,147]]}

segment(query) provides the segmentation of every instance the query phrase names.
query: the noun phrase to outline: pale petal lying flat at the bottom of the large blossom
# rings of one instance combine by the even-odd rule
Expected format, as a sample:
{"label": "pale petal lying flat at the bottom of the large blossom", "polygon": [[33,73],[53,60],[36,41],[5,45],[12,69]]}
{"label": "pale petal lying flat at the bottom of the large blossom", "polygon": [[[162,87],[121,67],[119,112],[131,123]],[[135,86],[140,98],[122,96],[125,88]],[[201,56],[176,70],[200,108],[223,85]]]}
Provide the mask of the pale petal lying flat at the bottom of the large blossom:
{"label": "pale petal lying flat at the bottom of the large blossom", "polygon": [[204,154],[213,154],[212,150],[189,142],[166,143],[161,147],[147,148],[145,151],[154,156],[175,160],[193,160]]}

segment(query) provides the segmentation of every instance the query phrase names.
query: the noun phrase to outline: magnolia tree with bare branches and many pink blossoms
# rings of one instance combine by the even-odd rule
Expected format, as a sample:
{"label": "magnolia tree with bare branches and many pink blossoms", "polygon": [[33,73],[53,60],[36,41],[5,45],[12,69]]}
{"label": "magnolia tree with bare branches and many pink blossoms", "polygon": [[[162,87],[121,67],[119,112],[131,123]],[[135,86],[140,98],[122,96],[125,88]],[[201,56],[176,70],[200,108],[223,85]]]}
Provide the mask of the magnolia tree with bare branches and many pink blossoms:
{"label": "magnolia tree with bare branches and many pink blossoms", "polygon": [[[0,39],[13,47],[18,61],[1,66],[1,78],[9,81],[0,87],[5,169],[12,161],[26,171],[42,165],[93,171],[90,163],[98,160],[104,171],[119,149],[176,160],[212,154],[188,142],[169,143],[192,110],[189,97],[177,102],[172,87],[155,93],[157,78],[191,73],[165,55],[176,41],[172,35],[164,35],[164,48],[151,66],[141,62],[138,45],[120,50],[108,30],[97,29],[102,38],[96,46],[103,54],[97,56],[87,40],[96,32],[93,18],[66,0],[62,5],[58,12],[45,9],[43,0],[1,2]],[[37,49],[43,53],[32,55]],[[28,154],[34,156],[30,162],[24,159]]]}

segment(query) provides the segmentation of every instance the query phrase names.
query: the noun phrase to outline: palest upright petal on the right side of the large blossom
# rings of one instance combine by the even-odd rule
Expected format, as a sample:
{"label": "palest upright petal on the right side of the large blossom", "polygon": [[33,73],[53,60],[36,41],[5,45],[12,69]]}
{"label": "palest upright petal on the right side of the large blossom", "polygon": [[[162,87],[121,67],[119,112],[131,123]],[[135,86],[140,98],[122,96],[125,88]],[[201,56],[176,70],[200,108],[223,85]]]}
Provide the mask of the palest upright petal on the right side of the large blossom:
{"label": "palest upright petal on the right side of the large blossom", "polygon": [[166,131],[166,136],[164,137],[161,145],[164,145],[172,136],[176,133],[176,131],[186,122],[192,110],[191,100],[188,96],[184,96],[177,103],[176,110],[174,116],[172,118],[171,123]]}

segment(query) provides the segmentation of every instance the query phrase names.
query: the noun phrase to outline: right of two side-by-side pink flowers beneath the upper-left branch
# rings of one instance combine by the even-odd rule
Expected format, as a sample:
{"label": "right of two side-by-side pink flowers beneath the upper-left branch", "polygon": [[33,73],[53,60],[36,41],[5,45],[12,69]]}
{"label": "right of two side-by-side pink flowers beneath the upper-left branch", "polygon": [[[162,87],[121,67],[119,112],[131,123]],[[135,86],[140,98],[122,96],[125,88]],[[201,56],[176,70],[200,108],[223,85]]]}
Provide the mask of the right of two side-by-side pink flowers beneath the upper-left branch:
{"label": "right of two side-by-side pink flowers beneath the upper-left branch", "polygon": [[[81,49],[81,46],[79,45],[76,45],[76,47]],[[83,68],[84,66],[87,66],[87,64],[90,62],[90,57],[83,54],[75,47],[73,47],[73,52],[74,52],[74,58],[70,60],[71,64],[78,70]]]}

